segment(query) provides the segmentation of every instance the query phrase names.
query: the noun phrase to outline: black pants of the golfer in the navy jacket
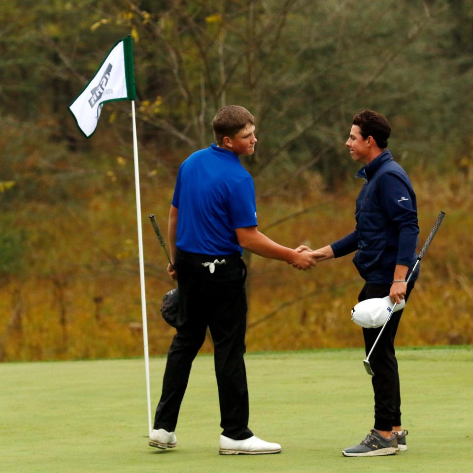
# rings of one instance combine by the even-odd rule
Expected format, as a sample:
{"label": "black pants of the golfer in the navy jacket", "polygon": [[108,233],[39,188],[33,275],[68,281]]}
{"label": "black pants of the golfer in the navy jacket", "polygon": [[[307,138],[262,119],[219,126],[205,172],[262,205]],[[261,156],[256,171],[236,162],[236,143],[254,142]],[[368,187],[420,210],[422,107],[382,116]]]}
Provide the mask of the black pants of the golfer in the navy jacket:
{"label": "black pants of the golfer in the navy jacket", "polygon": [[[405,301],[409,297],[414,282],[409,281]],[[389,296],[391,284],[365,284],[358,296],[358,301],[377,297]],[[393,426],[401,425],[401,390],[399,385],[398,362],[394,350],[394,338],[398,330],[403,310],[394,312],[379,338],[370,357],[370,365],[374,376],[372,384],[374,391],[374,428],[389,431]],[[381,327],[363,329],[365,350],[368,356],[374,340]]]}

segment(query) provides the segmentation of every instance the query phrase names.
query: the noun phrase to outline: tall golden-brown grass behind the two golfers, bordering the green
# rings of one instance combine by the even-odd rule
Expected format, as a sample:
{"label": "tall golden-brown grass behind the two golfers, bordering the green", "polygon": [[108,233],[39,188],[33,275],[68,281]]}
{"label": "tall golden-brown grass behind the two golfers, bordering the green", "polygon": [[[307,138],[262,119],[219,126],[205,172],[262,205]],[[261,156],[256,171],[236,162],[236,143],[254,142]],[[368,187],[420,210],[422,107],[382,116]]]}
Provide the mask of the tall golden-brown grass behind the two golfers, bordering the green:
{"label": "tall golden-brown grass behind the two golfers, bordering the green", "polygon": [[[307,176],[306,176],[307,177]],[[419,249],[439,210],[446,217],[421,264],[397,344],[464,344],[473,340],[473,193],[467,174],[411,173],[419,209]],[[330,192],[317,179],[258,201],[260,229],[287,246],[318,248],[354,228],[361,183]],[[308,184],[307,184],[308,182]],[[147,222],[155,213],[166,233],[172,185],[144,187],[143,235],[149,350],[166,353],[174,330],[161,318],[172,286],[166,257]],[[54,212],[31,204],[17,225],[31,228],[29,272],[0,287],[2,360],[141,356],[143,350],[134,201],[128,194],[91,197],[88,207]],[[34,213],[32,213],[34,212]],[[299,212],[279,224],[279,219]],[[266,229],[266,230],[265,230]],[[249,265],[247,348],[250,351],[362,346],[350,320],[363,283],[351,257],[297,271],[245,255]],[[211,351],[208,338],[203,351]]]}

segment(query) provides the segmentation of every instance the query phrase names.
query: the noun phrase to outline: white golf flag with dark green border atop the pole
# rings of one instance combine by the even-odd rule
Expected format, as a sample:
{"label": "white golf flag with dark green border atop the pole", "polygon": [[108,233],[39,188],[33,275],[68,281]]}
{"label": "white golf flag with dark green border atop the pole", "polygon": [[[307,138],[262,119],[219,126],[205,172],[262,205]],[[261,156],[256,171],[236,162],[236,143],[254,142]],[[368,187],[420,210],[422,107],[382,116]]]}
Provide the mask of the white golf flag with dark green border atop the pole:
{"label": "white golf flag with dark green border atop the pole", "polygon": [[128,36],[113,46],[93,79],[68,108],[79,130],[90,138],[97,128],[103,103],[135,97],[133,39]]}

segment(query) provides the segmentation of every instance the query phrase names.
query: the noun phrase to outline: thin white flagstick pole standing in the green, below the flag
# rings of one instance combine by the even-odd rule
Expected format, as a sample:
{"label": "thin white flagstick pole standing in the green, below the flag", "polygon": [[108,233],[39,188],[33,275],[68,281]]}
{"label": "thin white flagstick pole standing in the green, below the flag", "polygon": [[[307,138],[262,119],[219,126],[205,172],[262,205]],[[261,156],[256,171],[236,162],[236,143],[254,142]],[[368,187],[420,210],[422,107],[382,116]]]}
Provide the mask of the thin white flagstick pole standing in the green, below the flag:
{"label": "thin white flagstick pole standing in the green, below the flag", "polygon": [[133,155],[135,158],[136,220],[138,223],[139,280],[141,283],[141,314],[143,317],[144,369],[146,373],[146,397],[148,401],[148,435],[151,435],[151,396],[149,391],[148,323],[146,319],[146,294],[144,288],[143,235],[141,232],[141,199],[139,196],[138,143],[136,139],[135,101],[132,100]]}

